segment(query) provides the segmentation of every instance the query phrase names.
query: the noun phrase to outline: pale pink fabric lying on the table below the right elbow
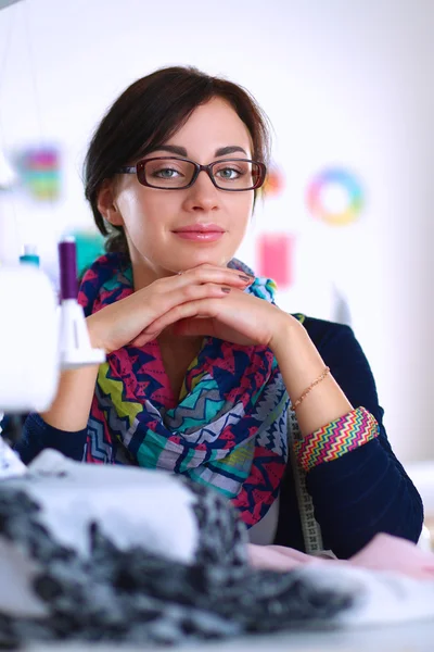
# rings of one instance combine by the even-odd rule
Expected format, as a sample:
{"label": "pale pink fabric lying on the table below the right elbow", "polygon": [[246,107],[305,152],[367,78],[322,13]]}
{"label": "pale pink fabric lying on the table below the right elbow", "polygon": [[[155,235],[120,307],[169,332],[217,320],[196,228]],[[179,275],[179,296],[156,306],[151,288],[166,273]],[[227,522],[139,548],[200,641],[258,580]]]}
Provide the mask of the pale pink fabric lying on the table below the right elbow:
{"label": "pale pink fabric lying on the table below the right elbow", "polygon": [[434,580],[434,554],[414,543],[391,535],[376,535],[360,552],[349,560],[312,556],[283,546],[248,544],[250,563],[256,568],[291,570],[301,564],[352,564],[371,570],[401,573],[416,579]]}

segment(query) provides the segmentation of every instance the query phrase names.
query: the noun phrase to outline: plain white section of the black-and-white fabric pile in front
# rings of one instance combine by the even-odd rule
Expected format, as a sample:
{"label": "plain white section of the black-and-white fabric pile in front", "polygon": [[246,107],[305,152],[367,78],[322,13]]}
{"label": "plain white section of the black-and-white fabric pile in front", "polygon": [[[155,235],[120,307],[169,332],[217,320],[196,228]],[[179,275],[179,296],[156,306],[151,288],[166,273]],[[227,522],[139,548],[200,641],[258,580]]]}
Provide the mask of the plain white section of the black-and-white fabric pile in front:
{"label": "plain white section of the black-and-white fabric pile in front", "polygon": [[[145,542],[150,552],[164,550],[179,562],[193,561],[197,527],[192,496],[167,472],[80,464],[50,449],[28,469],[44,525],[64,546],[87,554],[89,524],[97,518],[122,550]],[[67,474],[59,482],[54,474],[63,472]],[[91,500],[93,492],[98,492],[98,501]]]}

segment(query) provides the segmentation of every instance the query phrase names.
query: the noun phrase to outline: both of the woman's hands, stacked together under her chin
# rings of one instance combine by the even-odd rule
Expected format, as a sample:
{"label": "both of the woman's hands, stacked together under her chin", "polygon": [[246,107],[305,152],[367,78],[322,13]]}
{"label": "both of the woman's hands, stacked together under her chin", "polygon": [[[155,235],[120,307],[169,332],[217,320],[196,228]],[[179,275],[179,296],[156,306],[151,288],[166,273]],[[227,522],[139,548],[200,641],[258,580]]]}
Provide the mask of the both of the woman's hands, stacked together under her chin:
{"label": "both of the woman's hands, stacked together under her chin", "polygon": [[237,344],[272,342],[290,315],[244,292],[253,283],[238,269],[203,264],[159,278],[87,318],[92,346],[111,353],[142,347],[174,325],[178,336],[213,336]]}

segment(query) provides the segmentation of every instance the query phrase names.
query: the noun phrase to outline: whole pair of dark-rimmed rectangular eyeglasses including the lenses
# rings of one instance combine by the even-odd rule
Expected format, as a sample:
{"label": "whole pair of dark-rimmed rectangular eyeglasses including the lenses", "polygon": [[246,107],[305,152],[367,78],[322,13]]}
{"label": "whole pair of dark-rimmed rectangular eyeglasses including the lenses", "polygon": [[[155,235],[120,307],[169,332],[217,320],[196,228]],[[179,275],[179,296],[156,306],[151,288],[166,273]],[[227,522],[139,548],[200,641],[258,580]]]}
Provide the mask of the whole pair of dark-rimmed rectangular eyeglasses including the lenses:
{"label": "whole pair of dark-rimmed rectangular eyeglasses including the lenses", "polygon": [[206,172],[216,188],[230,192],[259,188],[267,173],[264,163],[250,159],[222,159],[209,165],[200,165],[189,159],[156,156],[119,167],[117,174],[137,174],[139,183],[150,188],[181,190],[190,188],[202,171]]}

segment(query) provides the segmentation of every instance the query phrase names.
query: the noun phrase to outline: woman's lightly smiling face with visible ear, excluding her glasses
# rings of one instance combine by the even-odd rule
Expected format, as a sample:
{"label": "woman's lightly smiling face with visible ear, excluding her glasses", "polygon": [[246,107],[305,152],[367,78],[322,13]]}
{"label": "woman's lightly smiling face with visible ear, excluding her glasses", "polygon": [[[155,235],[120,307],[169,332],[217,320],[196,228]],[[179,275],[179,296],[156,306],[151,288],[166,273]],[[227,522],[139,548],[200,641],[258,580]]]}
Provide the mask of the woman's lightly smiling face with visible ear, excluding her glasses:
{"label": "woman's lightly smiling face with visible ear, excluding her glasses", "polygon": [[[146,158],[181,156],[205,165],[219,159],[252,159],[247,127],[219,98],[197,106],[162,146],[175,149],[157,149]],[[253,190],[219,190],[206,172],[199,174],[191,188],[181,190],[149,188],[135,174],[124,174],[111,192],[114,209],[104,216],[124,226],[135,279],[139,274],[148,281],[202,263],[227,265],[243,239],[254,200]],[[200,234],[213,229],[212,225],[221,233],[186,236],[186,229],[197,228]]]}

